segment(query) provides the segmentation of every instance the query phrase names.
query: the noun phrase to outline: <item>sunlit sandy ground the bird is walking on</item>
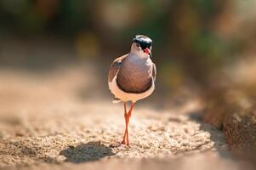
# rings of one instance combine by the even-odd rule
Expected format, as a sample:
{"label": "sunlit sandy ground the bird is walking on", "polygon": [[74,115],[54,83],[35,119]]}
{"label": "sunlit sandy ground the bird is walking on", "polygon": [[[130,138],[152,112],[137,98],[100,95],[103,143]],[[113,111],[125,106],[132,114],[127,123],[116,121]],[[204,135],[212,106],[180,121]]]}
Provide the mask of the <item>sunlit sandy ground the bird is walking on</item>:
{"label": "sunlit sandy ground the bird is walking on", "polygon": [[[105,78],[106,80],[106,78]],[[195,101],[179,109],[135,105],[130,147],[122,104],[92,66],[43,73],[0,71],[0,167],[6,169],[242,169],[224,134],[201,122]]]}

